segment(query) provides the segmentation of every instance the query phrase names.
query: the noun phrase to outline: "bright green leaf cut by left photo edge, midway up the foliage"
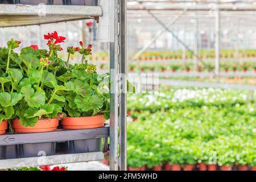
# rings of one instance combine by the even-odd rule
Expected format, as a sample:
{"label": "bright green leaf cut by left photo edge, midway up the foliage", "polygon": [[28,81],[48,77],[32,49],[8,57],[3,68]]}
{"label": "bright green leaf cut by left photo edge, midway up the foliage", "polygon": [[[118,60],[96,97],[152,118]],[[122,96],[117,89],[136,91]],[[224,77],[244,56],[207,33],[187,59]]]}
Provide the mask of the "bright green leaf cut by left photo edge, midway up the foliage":
{"label": "bright green leaf cut by left photo edge, midway up the foliage", "polygon": [[23,95],[21,93],[0,93],[0,104],[3,107],[14,106],[22,99]]}

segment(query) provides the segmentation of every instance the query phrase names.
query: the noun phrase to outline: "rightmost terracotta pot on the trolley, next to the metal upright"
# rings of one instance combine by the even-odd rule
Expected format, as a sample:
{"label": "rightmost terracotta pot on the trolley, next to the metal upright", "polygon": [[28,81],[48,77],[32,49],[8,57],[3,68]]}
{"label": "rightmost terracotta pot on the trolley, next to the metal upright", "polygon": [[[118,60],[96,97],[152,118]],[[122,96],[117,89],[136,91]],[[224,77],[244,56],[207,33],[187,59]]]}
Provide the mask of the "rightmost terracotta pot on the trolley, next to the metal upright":
{"label": "rightmost terracotta pot on the trolley, next to the metal upright", "polygon": [[92,117],[67,117],[62,119],[62,126],[68,130],[93,129],[103,127],[105,123],[104,115]]}

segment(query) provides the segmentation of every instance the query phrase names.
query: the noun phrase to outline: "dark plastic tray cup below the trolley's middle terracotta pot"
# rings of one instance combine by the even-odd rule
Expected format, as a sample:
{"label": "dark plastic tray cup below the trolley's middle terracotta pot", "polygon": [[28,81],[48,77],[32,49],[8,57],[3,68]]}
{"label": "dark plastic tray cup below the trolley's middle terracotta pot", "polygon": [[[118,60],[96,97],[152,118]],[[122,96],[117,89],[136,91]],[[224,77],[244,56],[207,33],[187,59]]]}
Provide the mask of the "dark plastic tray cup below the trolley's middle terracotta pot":
{"label": "dark plastic tray cup below the trolley's middle terracotta pot", "polygon": [[20,144],[19,157],[32,158],[36,156],[55,155],[55,148],[55,142]]}

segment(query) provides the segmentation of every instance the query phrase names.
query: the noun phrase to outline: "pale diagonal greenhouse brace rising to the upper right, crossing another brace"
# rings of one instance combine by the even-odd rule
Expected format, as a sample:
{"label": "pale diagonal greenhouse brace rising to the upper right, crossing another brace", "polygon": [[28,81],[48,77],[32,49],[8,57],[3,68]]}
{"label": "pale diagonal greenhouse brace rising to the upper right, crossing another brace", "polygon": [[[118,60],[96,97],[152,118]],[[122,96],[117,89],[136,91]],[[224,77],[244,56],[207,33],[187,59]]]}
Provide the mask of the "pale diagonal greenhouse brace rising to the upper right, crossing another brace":
{"label": "pale diagonal greenhouse brace rising to the upper right, crossing another brace", "polygon": [[[167,27],[167,28],[170,28],[173,24],[175,24],[175,22],[176,22],[183,14],[185,14],[187,10],[188,10],[188,7],[185,7],[185,8],[183,9],[183,11],[182,11],[180,14],[176,15],[176,16],[174,17],[174,19],[171,20],[171,22],[169,22],[169,23],[166,24],[166,27]],[[144,51],[146,51],[146,49],[147,49],[148,47],[150,47],[150,46],[163,34],[163,32],[166,31],[166,27],[163,27],[160,31],[158,31],[158,33],[150,40],[150,42],[148,42],[135,56],[133,56],[133,60],[137,60],[138,57],[141,56],[142,53],[143,53]]]}

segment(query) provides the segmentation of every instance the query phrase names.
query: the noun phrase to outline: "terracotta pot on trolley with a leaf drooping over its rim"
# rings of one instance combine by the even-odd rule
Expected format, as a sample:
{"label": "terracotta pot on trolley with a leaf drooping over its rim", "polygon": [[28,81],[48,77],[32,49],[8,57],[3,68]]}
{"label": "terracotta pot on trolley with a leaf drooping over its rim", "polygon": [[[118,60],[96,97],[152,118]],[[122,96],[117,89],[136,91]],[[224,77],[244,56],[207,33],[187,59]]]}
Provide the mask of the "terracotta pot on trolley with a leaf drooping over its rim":
{"label": "terracotta pot on trolley with a leaf drooping over its rim", "polygon": [[35,126],[24,127],[18,119],[13,119],[13,128],[16,133],[40,133],[56,131],[58,118],[39,119]]}

